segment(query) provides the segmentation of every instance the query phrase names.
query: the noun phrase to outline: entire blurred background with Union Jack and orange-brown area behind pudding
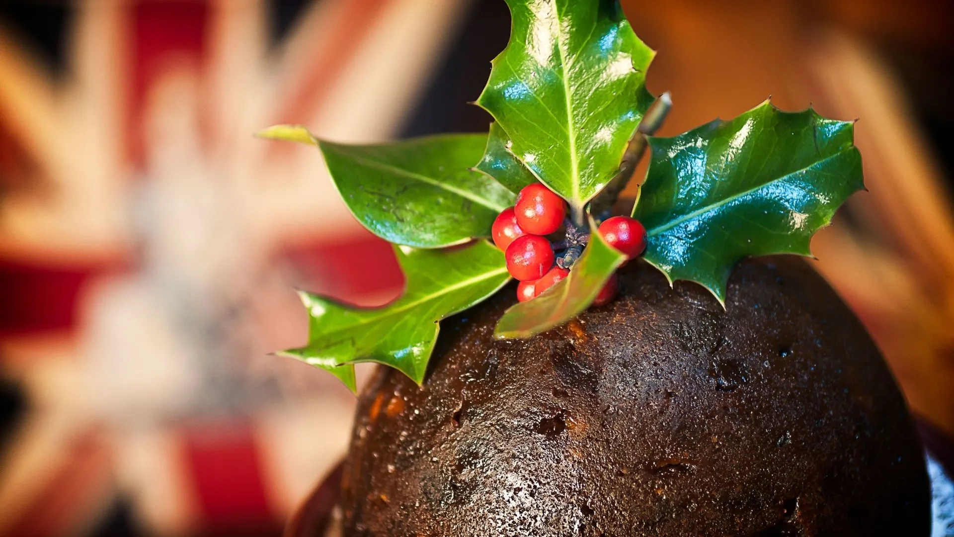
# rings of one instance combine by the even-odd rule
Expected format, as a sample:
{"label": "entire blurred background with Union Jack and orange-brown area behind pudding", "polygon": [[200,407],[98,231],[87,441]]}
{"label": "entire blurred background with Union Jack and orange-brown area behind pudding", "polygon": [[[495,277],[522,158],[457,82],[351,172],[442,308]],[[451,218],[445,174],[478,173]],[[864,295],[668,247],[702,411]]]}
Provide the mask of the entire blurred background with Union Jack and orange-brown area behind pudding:
{"label": "entire blurred background with Union Jack and orange-brown area behind pudding", "polygon": [[[870,191],[816,264],[954,434],[954,3],[624,8],[662,135],[769,95],[861,118]],[[354,406],[266,355],[306,336],[293,288],[375,305],[402,276],[317,151],[251,135],[486,130],[508,31],[504,0],[0,2],[0,535],[279,535]]]}

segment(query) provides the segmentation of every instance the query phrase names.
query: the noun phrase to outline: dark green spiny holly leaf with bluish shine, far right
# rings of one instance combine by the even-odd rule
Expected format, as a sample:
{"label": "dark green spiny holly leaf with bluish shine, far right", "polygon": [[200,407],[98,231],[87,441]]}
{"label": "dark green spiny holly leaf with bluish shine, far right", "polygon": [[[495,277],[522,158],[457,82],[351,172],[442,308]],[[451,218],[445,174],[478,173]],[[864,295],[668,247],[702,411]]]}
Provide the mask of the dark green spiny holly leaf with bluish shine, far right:
{"label": "dark green spiny holly leaf with bluish shine, far right", "polygon": [[651,138],[653,158],[633,217],[647,261],[670,281],[692,280],[725,301],[742,258],[811,255],[812,235],[864,187],[854,123],[766,101],[674,138]]}

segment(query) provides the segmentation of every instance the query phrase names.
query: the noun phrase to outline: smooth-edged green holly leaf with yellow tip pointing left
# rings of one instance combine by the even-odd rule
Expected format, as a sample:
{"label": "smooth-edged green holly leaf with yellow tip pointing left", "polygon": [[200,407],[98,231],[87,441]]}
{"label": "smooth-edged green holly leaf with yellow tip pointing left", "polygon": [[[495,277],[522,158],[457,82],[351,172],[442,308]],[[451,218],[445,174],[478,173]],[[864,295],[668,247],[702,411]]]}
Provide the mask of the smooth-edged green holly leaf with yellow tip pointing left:
{"label": "smooth-edged green holly leaf with yellow tip pointing left", "polygon": [[487,135],[454,134],[373,145],[318,140],[307,129],[277,125],[259,137],[321,148],[331,179],[363,226],[412,247],[446,247],[490,236],[514,195],[474,171]]}

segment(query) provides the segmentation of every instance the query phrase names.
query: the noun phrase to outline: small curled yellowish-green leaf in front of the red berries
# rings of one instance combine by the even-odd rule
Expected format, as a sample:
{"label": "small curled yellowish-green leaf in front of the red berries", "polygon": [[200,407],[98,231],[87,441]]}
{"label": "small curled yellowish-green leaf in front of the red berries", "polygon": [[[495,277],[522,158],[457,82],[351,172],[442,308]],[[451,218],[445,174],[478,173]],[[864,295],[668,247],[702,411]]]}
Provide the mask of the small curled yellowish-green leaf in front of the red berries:
{"label": "small curled yellowish-green leaf in front of the red berries", "polygon": [[[595,224],[591,221],[591,229]],[[497,321],[494,336],[526,338],[562,325],[590,307],[626,256],[592,233],[590,244],[573,264],[570,275],[540,296],[511,307]]]}

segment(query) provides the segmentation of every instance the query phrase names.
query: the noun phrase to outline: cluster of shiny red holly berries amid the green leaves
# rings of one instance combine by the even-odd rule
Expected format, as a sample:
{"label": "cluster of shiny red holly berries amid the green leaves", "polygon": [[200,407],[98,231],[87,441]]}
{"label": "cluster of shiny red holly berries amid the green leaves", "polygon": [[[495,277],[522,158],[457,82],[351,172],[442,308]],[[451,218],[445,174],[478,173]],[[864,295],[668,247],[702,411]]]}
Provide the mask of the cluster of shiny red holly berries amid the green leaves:
{"label": "cluster of shiny red holly berries amid the green leaves", "polygon": [[[526,302],[570,274],[569,265],[554,264],[557,254],[546,235],[556,233],[567,217],[567,203],[541,183],[524,187],[514,206],[504,209],[493,222],[493,243],[504,250],[510,275],[520,280],[517,300]],[[599,226],[599,233],[612,247],[635,258],[646,248],[646,229],[637,220],[614,216]],[[569,234],[568,234],[569,235]],[[566,247],[567,241],[564,241]],[[616,276],[593,304],[602,306],[616,295]]]}

